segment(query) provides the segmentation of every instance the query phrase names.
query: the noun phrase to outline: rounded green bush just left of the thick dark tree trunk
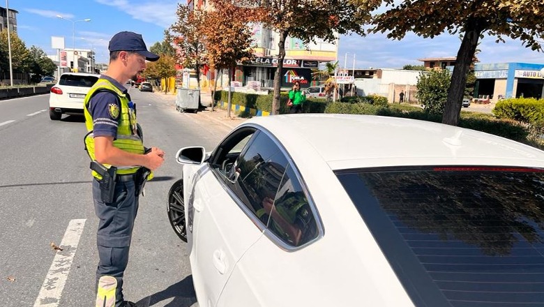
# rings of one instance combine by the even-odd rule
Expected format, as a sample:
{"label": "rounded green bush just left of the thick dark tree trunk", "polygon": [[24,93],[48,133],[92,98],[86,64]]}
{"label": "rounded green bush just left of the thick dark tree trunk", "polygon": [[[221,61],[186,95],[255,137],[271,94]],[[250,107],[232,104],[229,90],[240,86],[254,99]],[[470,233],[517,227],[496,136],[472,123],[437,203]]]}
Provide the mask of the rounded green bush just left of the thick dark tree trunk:
{"label": "rounded green bush just left of the thick dark tree trunk", "polygon": [[443,114],[444,105],[448,99],[451,75],[449,70],[431,70],[429,73],[419,73],[417,98],[425,107],[425,112]]}

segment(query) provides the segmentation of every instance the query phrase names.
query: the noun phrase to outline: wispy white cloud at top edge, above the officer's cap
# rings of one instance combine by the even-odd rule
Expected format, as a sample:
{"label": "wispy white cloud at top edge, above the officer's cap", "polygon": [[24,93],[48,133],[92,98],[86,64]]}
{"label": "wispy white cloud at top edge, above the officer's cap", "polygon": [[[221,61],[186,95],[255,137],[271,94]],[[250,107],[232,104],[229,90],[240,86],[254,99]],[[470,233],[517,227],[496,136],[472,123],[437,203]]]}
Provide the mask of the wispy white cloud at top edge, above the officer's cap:
{"label": "wispy white cloud at top edge, above the officer's cap", "polygon": [[156,24],[159,27],[168,28],[176,21],[176,10],[178,1],[147,1],[145,3],[135,3],[128,0],[95,0],[106,6],[113,6],[135,20]]}

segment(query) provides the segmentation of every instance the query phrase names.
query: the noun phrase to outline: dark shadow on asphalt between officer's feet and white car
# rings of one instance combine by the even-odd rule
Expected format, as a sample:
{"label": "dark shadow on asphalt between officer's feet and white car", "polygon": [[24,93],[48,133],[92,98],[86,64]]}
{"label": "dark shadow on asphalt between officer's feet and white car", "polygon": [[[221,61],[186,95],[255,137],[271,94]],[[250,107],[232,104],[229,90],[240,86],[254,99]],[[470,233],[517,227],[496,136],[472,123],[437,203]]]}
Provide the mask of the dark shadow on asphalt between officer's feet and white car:
{"label": "dark shadow on asphalt between officer's feet and white car", "polygon": [[197,302],[191,275],[179,281],[179,283],[175,283],[174,285],[167,287],[161,292],[157,292],[155,294],[151,294],[149,297],[140,299],[136,305],[144,306],[143,304],[146,304],[146,302],[149,301],[149,306],[153,306],[158,304],[160,301],[171,299],[172,297],[174,300],[166,304],[165,307],[190,307],[192,304]]}

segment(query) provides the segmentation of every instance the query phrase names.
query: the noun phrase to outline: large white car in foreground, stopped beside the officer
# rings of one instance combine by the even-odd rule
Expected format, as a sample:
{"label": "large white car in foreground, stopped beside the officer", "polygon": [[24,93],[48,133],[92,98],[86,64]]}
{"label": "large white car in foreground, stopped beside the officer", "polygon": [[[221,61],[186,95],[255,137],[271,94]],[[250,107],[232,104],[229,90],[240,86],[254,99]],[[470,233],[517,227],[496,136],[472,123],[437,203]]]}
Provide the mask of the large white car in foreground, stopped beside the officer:
{"label": "large white car in foreground, stopped beside the officer", "polygon": [[440,123],[245,121],[180,149],[200,306],[540,306],[544,151]]}

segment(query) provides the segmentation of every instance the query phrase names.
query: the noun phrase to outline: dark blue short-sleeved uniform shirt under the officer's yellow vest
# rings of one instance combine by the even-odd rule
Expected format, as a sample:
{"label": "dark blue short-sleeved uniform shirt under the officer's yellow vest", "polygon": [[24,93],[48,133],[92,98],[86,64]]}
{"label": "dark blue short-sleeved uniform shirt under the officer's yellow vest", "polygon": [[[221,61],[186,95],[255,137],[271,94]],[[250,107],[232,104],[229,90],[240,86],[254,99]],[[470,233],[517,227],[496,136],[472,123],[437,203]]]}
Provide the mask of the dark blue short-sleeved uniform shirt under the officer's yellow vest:
{"label": "dark blue short-sleeved uniform shirt under the officer's yellow vest", "polygon": [[[112,82],[119,91],[128,95],[128,90],[123,87],[123,84],[117,82],[117,80],[107,75],[100,75],[100,78]],[[128,99],[130,100],[130,96],[128,96]],[[119,112],[112,112],[115,106]],[[89,101],[89,114],[93,117],[93,134],[95,137],[107,136],[114,137],[114,139],[117,138],[121,105],[119,105],[119,98],[114,93],[108,91],[96,93]]]}

